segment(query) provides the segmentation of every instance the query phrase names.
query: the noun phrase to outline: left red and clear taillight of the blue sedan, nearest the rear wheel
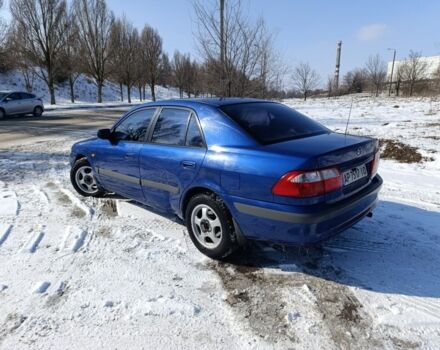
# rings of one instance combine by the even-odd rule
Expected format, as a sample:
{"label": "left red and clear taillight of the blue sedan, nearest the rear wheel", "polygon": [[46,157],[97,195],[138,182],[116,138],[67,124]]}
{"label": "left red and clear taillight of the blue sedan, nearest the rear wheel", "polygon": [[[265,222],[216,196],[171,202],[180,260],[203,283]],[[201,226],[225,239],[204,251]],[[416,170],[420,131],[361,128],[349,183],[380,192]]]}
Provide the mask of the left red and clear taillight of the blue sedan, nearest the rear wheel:
{"label": "left red and clear taillight of the blue sedan, nearest the rear wheel", "polygon": [[342,187],[342,175],[336,168],[315,171],[291,171],[272,188],[277,196],[313,197]]}

